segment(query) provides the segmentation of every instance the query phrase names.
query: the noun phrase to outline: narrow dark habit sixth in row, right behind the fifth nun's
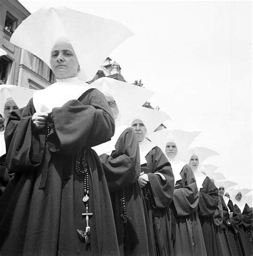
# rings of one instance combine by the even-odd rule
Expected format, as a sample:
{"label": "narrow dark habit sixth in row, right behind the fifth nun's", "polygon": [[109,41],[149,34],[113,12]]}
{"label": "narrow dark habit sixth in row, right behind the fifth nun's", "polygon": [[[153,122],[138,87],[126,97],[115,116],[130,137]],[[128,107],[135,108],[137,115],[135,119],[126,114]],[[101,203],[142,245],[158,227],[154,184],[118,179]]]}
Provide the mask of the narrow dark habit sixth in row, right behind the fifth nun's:
{"label": "narrow dark habit sixth in row, right behind the fifth nun's", "polygon": [[225,218],[225,216],[223,216],[224,205],[222,201],[224,202],[224,199],[221,195],[219,195],[219,204],[214,213],[217,251],[218,251],[218,256],[230,256],[231,255],[230,247],[228,245],[227,237],[225,234],[226,226],[224,228],[223,219]]}

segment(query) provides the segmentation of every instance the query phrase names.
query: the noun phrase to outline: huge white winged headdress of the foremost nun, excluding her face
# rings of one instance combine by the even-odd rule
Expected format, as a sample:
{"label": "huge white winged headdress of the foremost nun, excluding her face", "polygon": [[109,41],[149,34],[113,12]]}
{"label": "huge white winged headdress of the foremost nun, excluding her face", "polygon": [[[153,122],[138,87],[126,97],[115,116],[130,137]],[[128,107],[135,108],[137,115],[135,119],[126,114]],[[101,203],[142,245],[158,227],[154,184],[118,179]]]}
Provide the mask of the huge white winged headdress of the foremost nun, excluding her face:
{"label": "huge white winged headdress of the foremost nun, excluding her face", "polygon": [[21,22],[10,42],[36,55],[50,66],[54,44],[64,39],[80,64],[79,78],[93,79],[110,52],[133,33],[117,21],[62,6],[42,7]]}

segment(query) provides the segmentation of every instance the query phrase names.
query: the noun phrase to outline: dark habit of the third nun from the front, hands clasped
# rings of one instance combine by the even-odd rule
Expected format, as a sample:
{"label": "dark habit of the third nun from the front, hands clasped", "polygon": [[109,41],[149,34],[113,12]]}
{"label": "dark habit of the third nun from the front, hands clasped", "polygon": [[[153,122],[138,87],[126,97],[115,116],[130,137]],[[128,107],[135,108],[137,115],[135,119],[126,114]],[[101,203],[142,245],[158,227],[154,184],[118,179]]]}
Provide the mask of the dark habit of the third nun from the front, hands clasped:
{"label": "dark habit of the third nun from the front, hands clasped", "polygon": [[[172,201],[174,176],[167,157],[159,147],[154,147],[145,156],[147,163],[141,171],[148,175],[149,182],[142,189],[148,212],[149,228],[155,255],[173,255],[169,205]],[[162,174],[166,180],[156,173]]]}

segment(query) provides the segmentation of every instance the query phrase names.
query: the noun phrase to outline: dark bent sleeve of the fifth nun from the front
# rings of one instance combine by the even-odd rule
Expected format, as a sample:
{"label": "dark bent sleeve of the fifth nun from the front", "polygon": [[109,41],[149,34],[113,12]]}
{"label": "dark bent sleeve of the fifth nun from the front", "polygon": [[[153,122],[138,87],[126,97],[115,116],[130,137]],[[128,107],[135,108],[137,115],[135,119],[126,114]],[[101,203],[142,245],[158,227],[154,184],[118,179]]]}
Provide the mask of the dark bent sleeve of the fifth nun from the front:
{"label": "dark bent sleeve of the fifth nun from the front", "polygon": [[200,216],[209,217],[214,215],[219,203],[219,192],[215,184],[206,177],[203,187],[200,189],[198,213]]}

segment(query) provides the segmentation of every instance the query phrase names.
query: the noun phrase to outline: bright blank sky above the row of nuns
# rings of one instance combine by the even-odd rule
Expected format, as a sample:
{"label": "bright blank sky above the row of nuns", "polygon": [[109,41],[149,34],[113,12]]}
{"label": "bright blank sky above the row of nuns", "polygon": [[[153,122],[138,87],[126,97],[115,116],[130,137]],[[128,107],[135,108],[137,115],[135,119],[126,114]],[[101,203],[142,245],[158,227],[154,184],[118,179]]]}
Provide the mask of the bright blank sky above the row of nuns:
{"label": "bright blank sky above the row of nuns", "polygon": [[128,82],[156,92],[153,107],[170,127],[202,131],[196,144],[220,153],[227,179],[252,189],[251,2],[20,1],[30,12],[49,4],[120,21],[135,36],[110,58]]}

